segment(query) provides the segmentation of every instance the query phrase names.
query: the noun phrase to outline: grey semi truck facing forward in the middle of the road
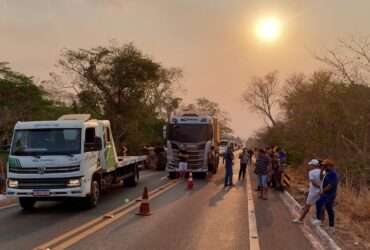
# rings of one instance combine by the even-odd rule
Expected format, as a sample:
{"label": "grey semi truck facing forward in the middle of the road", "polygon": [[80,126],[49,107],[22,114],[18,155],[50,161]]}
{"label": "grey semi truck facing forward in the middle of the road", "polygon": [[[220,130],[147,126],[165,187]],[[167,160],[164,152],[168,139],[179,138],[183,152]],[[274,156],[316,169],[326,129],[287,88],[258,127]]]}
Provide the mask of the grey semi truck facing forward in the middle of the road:
{"label": "grey semi truck facing forward in the middle of the road", "polygon": [[[167,165],[170,178],[179,169],[179,153],[188,155],[188,171],[205,178],[219,164],[220,126],[217,119],[197,114],[173,116],[165,126]],[[212,156],[212,157],[210,157]]]}

